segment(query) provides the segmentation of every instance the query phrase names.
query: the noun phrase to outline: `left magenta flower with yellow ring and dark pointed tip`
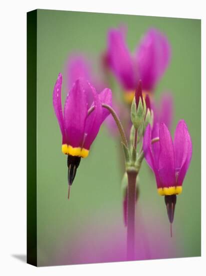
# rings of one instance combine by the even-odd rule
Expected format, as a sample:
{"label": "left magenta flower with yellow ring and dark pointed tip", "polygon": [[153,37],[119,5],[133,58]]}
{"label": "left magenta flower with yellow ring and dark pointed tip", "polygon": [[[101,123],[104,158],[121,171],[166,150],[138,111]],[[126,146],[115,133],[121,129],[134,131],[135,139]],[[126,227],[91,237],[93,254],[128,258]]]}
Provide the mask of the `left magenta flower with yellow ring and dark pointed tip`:
{"label": "left magenta flower with yellow ring and dark pointed tip", "polygon": [[[97,94],[89,82],[78,79],[66,96],[62,112],[61,85],[62,75],[59,73],[53,89],[53,108],[62,134],[61,150],[68,156],[68,185],[70,187],[80,159],[88,156],[100,125],[109,114],[108,110],[102,108],[102,103],[111,105],[111,90],[105,88]],[[87,86],[86,90],[85,86]],[[89,106],[90,94],[93,102]]]}

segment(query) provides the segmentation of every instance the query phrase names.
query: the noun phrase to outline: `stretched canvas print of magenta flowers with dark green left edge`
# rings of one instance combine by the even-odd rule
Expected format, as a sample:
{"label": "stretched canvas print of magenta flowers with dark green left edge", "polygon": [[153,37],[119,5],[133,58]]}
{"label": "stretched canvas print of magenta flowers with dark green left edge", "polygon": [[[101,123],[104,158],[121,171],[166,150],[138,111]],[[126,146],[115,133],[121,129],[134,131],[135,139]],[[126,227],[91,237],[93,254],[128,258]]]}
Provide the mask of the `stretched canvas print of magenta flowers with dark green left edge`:
{"label": "stretched canvas print of magenta flowers with dark green left edge", "polygon": [[200,20],[27,13],[27,262],[200,256]]}

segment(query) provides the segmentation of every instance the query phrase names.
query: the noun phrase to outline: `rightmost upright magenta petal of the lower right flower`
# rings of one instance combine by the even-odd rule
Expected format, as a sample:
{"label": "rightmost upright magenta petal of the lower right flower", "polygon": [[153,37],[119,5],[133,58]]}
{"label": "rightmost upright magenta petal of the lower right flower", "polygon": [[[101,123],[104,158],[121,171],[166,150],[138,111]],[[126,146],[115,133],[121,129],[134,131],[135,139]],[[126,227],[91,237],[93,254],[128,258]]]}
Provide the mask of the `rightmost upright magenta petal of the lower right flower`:
{"label": "rightmost upright magenta petal of the lower right flower", "polygon": [[192,155],[191,138],[184,120],[180,120],[176,126],[174,134],[174,154],[175,168],[178,175],[177,185],[182,185]]}

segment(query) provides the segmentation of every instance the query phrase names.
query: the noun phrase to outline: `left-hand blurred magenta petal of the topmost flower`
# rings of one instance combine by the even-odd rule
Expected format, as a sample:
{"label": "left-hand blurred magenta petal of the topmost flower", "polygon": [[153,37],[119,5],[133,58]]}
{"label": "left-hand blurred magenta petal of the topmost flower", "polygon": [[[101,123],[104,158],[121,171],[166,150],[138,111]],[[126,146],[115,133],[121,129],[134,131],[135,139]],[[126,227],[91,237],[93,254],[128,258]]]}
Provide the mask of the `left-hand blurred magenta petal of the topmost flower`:
{"label": "left-hand blurred magenta petal of the topmost flower", "polygon": [[108,32],[107,60],[113,73],[125,89],[134,88],[134,66],[123,33],[111,29]]}

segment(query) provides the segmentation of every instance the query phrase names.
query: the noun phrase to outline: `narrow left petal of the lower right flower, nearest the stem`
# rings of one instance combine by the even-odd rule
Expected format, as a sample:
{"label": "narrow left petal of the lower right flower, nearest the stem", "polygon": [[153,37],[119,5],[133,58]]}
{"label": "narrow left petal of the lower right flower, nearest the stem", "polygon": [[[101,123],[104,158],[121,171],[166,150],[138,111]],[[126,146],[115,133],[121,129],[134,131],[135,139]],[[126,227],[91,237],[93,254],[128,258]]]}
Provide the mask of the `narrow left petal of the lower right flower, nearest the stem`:
{"label": "narrow left petal of the lower right flower, nearest the stem", "polygon": [[145,157],[147,164],[154,172],[157,188],[161,188],[161,183],[160,183],[159,174],[158,174],[158,170],[157,170],[157,163],[155,162],[156,158],[153,157],[153,153],[152,153],[152,149],[151,149],[151,126],[150,126],[150,124],[147,125],[146,130],[144,132],[143,152],[144,152],[144,157]]}

